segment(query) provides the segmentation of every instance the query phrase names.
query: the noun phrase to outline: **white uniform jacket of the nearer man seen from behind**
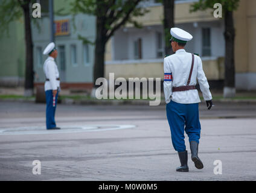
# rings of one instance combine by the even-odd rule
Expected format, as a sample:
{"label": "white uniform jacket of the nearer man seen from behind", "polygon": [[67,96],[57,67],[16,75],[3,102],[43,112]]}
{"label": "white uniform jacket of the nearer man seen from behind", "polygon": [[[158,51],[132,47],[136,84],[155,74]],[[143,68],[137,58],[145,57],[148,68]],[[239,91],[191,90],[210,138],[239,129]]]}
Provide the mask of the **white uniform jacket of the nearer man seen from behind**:
{"label": "white uniform jacket of the nearer man seen from behind", "polygon": [[[170,100],[176,103],[191,104],[200,103],[200,98],[197,90],[185,90],[172,92],[173,87],[187,86],[188,77],[190,75],[192,63],[192,55],[185,49],[178,49],[175,54],[169,55],[164,59],[164,95],[165,102],[170,103]],[[198,80],[200,90],[203,93],[205,101],[212,100],[208,81],[203,72],[202,60],[199,56],[194,55],[194,68],[191,75],[190,86],[196,85]]]}

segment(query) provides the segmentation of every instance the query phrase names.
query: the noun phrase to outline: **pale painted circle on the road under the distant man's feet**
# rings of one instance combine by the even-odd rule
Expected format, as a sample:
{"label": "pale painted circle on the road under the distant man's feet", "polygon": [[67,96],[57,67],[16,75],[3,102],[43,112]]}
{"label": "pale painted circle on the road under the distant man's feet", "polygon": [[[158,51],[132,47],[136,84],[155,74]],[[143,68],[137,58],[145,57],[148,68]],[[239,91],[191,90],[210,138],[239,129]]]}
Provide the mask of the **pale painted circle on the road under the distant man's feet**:
{"label": "pale painted circle on the road under the distant man's feet", "polygon": [[60,130],[46,130],[45,127],[15,127],[0,128],[0,135],[17,134],[54,134],[54,133],[80,133],[94,131],[112,131],[126,128],[135,128],[135,125],[75,125],[63,126]]}

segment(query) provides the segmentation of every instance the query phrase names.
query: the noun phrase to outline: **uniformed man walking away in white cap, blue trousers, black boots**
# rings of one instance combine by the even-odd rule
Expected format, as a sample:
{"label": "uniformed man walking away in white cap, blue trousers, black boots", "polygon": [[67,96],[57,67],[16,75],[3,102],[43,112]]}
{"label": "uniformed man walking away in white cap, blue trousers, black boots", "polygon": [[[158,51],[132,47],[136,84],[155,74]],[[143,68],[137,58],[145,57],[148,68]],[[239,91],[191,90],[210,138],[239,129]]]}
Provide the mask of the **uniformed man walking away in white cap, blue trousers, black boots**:
{"label": "uniformed man walking away in white cap, blue trousers, black boots", "polygon": [[198,108],[200,98],[195,87],[196,79],[209,110],[213,103],[209,84],[203,72],[202,60],[184,49],[187,41],[193,39],[193,36],[180,28],[171,28],[171,36],[174,54],[164,59],[164,94],[171,141],[181,161],[181,166],[176,171],[187,172],[188,152],[185,147],[184,130],[190,141],[191,159],[197,169],[203,168],[203,163],[197,156],[201,127]]}

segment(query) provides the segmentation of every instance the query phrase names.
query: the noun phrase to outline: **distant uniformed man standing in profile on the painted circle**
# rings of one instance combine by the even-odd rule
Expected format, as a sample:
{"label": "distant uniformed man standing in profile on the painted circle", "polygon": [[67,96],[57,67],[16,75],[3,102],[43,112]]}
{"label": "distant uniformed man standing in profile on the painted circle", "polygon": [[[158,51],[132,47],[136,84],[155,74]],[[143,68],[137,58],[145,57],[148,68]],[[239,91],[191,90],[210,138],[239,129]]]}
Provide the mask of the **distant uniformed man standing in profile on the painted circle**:
{"label": "distant uniformed man standing in profile on the painted circle", "polygon": [[45,73],[45,96],[46,96],[46,128],[48,130],[60,129],[56,127],[54,119],[58,93],[60,88],[59,71],[54,59],[57,58],[58,51],[55,44],[50,43],[43,51],[44,55],[49,55],[43,64],[43,72]]}

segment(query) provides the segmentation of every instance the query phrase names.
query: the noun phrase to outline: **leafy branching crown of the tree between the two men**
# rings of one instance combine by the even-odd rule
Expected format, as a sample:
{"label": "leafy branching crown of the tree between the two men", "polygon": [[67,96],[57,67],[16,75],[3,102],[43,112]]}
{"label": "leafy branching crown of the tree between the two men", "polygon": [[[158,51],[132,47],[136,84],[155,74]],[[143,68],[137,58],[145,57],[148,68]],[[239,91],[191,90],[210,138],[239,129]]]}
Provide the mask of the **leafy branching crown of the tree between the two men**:
{"label": "leafy branching crown of the tree between the two men", "polygon": [[141,1],[143,0],[75,0],[71,5],[74,14],[91,14],[102,19],[107,41],[126,23],[141,27],[135,19],[132,19],[147,12],[146,8],[136,7]]}

